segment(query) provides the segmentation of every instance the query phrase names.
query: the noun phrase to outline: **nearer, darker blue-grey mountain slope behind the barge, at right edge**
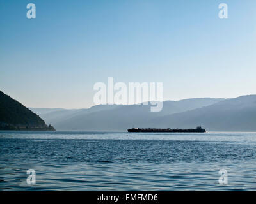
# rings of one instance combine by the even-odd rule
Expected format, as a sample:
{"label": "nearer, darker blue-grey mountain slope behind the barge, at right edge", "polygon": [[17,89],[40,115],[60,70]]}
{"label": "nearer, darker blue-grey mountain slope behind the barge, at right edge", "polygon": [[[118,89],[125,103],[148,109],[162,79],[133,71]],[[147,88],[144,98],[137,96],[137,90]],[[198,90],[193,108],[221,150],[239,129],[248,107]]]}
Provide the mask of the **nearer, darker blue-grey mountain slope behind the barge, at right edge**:
{"label": "nearer, darker blue-grey mountain slope behind the barge, at right edge", "polygon": [[157,117],[148,122],[159,128],[195,128],[207,131],[256,131],[256,95],[226,99],[204,108]]}

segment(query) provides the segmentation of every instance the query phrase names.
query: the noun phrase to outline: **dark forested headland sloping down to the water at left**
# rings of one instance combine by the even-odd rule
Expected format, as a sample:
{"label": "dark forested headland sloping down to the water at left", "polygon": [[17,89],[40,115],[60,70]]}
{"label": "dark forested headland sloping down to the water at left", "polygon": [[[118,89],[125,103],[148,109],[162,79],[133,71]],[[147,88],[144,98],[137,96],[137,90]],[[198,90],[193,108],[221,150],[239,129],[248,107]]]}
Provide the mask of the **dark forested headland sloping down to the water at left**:
{"label": "dark forested headland sloping down to the water at left", "polygon": [[0,130],[55,131],[24,105],[0,91]]}

